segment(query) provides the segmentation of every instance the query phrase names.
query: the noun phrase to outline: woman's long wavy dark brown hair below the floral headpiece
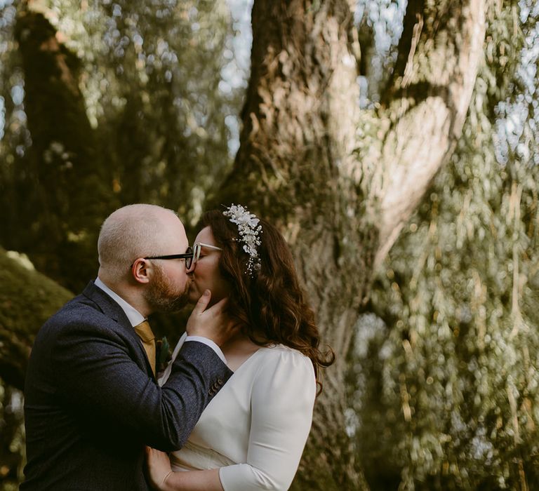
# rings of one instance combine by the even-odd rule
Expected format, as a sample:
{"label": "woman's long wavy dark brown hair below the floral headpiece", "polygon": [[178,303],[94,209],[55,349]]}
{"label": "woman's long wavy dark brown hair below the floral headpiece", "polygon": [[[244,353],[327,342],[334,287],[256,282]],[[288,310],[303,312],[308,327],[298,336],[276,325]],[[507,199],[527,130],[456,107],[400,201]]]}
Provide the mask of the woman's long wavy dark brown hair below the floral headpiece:
{"label": "woman's long wavy dark brown hair below the floral headpiece", "polygon": [[242,330],[255,344],[280,343],[308,356],[321,392],[320,368],[335,361],[333,350],[319,349],[320,336],[314,312],[300,288],[292,254],[284,237],[272,224],[260,220],[258,246],[260,269],[247,271],[248,255],[239,241],[238,227],[220,210],[201,218],[200,229],[211,227],[215,243],[222,248],[220,274],[230,285],[227,314],[237,318]]}

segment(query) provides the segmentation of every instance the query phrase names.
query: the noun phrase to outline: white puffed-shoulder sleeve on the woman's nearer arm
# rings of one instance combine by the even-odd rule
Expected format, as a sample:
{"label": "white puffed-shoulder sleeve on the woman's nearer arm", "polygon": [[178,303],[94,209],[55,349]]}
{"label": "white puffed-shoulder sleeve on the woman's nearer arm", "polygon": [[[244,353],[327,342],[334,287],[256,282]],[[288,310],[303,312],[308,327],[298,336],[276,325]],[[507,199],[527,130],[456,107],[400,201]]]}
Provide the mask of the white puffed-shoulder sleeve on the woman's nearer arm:
{"label": "white puffed-shoulder sleeve on the woman's nearer arm", "polygon": [[281,350],[258,367],[251,394],[247,462],[221,467],[222,487],[225,491],[287,490],[312,423],[316,381],[310,359]]}

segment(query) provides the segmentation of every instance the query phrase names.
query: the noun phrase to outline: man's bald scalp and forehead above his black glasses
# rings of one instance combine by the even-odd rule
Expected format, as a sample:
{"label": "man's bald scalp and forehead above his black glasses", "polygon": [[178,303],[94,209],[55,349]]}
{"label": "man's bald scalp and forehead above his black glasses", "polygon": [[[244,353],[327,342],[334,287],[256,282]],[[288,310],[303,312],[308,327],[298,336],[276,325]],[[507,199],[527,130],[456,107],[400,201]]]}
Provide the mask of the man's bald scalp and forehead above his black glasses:
{"label": "man's bald scalp and forehead above his black glasses", "polygon": [[174,254],[182,247],[187,247],[187,236],[172,210],[146,204],[124,206],[101,226],[100,277],[121,280],[138,257]]}

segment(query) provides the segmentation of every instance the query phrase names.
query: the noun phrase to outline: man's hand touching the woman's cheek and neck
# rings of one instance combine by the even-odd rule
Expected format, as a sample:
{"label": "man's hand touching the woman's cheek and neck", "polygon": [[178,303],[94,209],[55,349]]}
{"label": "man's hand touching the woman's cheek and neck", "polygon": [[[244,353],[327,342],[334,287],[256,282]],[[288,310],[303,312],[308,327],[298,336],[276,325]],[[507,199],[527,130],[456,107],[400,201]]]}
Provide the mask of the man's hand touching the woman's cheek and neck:
{"label": "man's hand touching the woman's cheek and neck", "polygon": [[206,290],[187,319],[187,335],[207,337],[222,347],[238,332],[239,326],[225,315],[226,298],[207,309],[210,300],[211,292]]}

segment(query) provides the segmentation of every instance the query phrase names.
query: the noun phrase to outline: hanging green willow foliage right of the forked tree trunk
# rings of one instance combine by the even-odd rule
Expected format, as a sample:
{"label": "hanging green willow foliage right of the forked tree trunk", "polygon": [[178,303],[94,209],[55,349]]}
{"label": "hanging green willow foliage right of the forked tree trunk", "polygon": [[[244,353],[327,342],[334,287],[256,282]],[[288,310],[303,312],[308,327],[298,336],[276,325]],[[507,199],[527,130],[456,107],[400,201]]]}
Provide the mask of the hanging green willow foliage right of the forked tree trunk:
{"label": "hanging green willow foliage right of the forked tree trunk", "polygon": [[373,490],[539,489],[539,8],[490,15],[458,149],[357,323],[347,417]]}

